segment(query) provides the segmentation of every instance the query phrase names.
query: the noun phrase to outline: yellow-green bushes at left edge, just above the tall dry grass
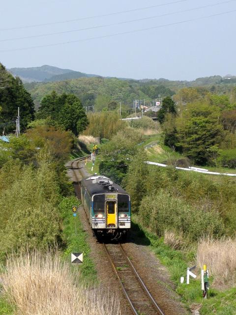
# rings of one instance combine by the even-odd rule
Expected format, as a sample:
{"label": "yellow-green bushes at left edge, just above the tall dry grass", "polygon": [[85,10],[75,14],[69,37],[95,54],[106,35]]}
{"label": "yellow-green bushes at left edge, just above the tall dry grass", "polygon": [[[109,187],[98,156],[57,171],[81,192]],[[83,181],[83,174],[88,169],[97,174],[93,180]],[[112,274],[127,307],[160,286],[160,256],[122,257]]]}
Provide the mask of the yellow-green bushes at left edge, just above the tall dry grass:
{"label": "yellow-green bushes at left edge, just above the tall dry grass", "polygon": [[59,187],[50,164],[41,162],[34,171],[9,162],[0,170],[0,178],[7,182],[0,187],[0,253],[46,249],[59,241]]}

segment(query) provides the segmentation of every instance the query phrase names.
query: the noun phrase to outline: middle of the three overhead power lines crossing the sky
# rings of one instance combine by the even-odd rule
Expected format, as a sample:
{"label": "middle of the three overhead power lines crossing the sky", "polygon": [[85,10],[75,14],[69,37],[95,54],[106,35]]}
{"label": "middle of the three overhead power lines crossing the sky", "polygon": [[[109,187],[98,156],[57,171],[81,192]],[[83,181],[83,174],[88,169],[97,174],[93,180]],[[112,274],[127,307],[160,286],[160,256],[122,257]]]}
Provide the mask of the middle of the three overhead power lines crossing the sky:
{"label": "middle of the three overhead power lines crossing the sky", "polygon": [[72,30],[65,30],[65,31],[59,31],[59,32],[54,32],[54,33],[45,33],[45,34],[39,34],[39,35],[22,36],[22,37],[8,38],[8,39],[0,39],[0,42],[19,40],[19,39],[29,39],[29,38],[35,38],[35,37],[52,36],[52,35],[59,35],[59,34],[66,34],[66,33],[78,32],[78,31],[83,31],[83,30],[88,30],[88,29],[99,29],[99,28],[111,27],[111,26],[115,26],[115,25],[122,25],[122,24],[127,24],[127,23],[132,23],[132,22],[138,22],[138,21],[143,21],[143,20],[159,18],[159,17],[173,15],[173,14],[177,14],[177,13],[190,12],[190,11],[203,9],[203,8],[207,8],[207,7],[212,7],[212,6],[216,6],[216,5],[220,5],[220,4],[225,4],[225,3],[229,3],[229,2],[233,2],[233,1],[236,1],[236,0],[227,0],[227,1],[223,1],[223,2],[217,2],[217,3],[214,3],[214,4],[198,6],[198,7],[191,8],[191,9],[175,11],[175,12],[165,13],[165,14],[159,14],[159,15],[149,16],[149,17],[135,19],[135,20],[129,20],[129,21],[123,21],[123,22],[99,25],[99,26],[83,28],[83,29],[72,29]]}

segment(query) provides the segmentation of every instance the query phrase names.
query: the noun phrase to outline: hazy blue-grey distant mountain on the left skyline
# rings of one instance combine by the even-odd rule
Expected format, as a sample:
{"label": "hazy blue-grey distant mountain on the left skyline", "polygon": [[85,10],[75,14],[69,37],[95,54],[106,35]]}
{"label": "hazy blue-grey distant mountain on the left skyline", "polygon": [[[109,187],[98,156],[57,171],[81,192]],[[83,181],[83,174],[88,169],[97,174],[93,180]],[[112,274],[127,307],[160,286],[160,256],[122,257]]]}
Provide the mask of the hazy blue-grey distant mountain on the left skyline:
{"label": "hazy blue-grey distant mountain on the left skyline", "polygon": [[25,83],[63,81],[68,79],[97,77],[94,74],[86,74],[70,69],[61,69],[50,65],[31,68],[11,68],[8,69],[8,71],[13,76],[20,77]]}

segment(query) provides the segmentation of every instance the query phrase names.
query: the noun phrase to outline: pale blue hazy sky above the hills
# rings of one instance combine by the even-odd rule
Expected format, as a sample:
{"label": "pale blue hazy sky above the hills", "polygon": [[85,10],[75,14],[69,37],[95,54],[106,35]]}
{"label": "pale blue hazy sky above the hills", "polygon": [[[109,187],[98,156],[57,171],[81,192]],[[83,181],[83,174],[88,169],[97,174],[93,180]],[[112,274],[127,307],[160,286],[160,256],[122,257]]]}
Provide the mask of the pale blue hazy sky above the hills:
{"label": "pale blue hazy sky above the hills", "polygon": [[8,0],[0,10],[7,68],[48,64],[133,79],[236,75],[236,0]]}

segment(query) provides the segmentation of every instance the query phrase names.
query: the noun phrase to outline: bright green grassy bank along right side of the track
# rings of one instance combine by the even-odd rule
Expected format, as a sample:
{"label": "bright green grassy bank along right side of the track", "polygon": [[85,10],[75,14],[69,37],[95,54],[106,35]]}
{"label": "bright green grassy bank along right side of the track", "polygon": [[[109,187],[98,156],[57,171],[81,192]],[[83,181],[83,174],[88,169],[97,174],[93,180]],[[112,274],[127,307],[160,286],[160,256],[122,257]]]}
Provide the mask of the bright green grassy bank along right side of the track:
{"label": "bright green grassy bank along right side of the track", "polygon": [[[191,248],[174,250],[164,242],[163,237],[158,237],[144,229],[139,223],[139,217],[133,215],[132,237],[136,242],[146,245],[153,251],[160,262],[167,268],[171,280],[175,284],[177,293],[181,296],[182,302],[189,310],[200,308],[200,315],[235,315],[236,314],[236,288],[222,286],[212,287],[214,278],[209,278],[210,288],[208,299],[203,299],[201,290],[200,268],[193,272],[196,279],[190,279],[190,284],[186,285],[187,267],[196,264],[197,244],[192,244]],[[184,283],[180,284],[180,277],[184,277]]]}

